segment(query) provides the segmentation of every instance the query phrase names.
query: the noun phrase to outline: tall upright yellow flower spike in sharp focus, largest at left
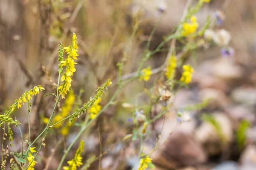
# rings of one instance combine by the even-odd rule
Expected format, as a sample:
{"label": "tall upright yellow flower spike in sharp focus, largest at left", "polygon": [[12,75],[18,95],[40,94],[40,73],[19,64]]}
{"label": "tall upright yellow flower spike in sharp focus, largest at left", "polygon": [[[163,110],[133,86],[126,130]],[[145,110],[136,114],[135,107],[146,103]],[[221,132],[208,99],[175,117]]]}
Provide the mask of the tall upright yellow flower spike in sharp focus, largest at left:
{"label": "tall upright yellow flower spike in sharp focus, largest at left", "polygon": [[73,76],[73,73],[76,71],[75,64],[77,63],[74,62],[74,59],[77,59],[76,56],[79,56],[76,53],[78,51],[76,39],[77,39],[76,34],[73,33],[72,45],[68,47],[64,47],[64,49],[66,50],[65,52],[67,52],[67,54],[69,55],[67,59],[65,59],[65,61],[61,61],[62,66],[66,66],[66,72],[61,77],[61,81],[63,83],[61,83],[61,85],[58,87],[59,94],[61,95],[62,99],[67,94],[67,91],[70,91],[71,82],[72,82],[71,76]]}

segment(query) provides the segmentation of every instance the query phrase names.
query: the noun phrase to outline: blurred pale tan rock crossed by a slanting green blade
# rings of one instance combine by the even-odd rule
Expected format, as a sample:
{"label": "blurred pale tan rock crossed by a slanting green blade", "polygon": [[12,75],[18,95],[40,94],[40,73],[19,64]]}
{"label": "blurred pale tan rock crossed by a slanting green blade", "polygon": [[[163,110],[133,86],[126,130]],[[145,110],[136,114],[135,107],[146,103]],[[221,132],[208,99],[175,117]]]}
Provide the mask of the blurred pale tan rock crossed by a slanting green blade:
{"label": "blurred pale tan rock crossed by a slanting green blade", "polygon": [[232,122],[225,113],[212,113],[212,115],[218,122],[221,133],[225,139],[221,140],[221,136],[209,122],[203,122],[203,124],[195,130],[195,138],[206,146],[209,155],[217,155],[223,150],[223,142],[229,143],[233,139],[233,128]]}

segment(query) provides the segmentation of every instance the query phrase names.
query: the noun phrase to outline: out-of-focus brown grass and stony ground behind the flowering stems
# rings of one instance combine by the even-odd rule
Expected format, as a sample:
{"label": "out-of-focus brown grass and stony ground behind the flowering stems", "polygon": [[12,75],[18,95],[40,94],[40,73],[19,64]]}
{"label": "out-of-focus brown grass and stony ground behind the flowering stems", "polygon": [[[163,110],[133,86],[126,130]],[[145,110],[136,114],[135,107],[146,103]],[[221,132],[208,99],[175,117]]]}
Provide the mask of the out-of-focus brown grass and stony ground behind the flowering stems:
{"label": "out-of-focus brown grass and stony ground behind the flowering stems", "polygon": [[[196,2],[192,0],[192,6]],[[186,3],[187,0],[0,0],[1,114],[24,91],[42,85],[46,91],[33,99],[30,114],[32,139],[35,139],[44,129],[43,119],[49,117],[55,103],[54,96],[42,96],[56,91],[59,42],[70,45],[73,32],[78,37],[79,59],[72,89],[76,103],[82,105],[107,79],[116,82],[117,64],[124,56],[122,74],[137,71],[148,37],[159,18],[162,17],[151,50],[177,26]],[[172,109],[165,120],[154,122],[143,148],[145,153],[153,150],[164,122],[160,143],[151,156],[157,170],[256,169],[256,1],[211,0],[196,17],[199,26],[203,26],[207,16],[214,20],[220,15],[223,23],[216,29],[230,33],[233,55],[224,55],[218,45],[205,46],[188,54],[187,63],[193,66],[195,73],[190,88],[180,89],[175,94],[173,105],[183,111],[188,106],[211,100],[207,107],[193,109],[189,122],[177,122],[177,113]],[[138,22],[140,25],[135,28]],[[160,67],[169,46],[170,43],[166,43],[146,65],[152,69]],[[177,43],[177,50],[178,47],[182,48]],[[143,94],[144,88],[151,87],[156,77],[152,75],[146,83],[132,82],[117,96],[115,105],[83,135],[83,165],[89,160],[88,169],[98,169],[100,164],[103,170],[130,170],[139,161],[140,141],[119,140],[131,133],[132,125],[127,121],[131,108],[146,105],[148,98]],[[101,105],[108,102],[115,89],[114,86],[106,92]],[[152,114],[159,113],[159,109],[156,106]],[[27,134],[26,107],[17,110],[14,117]],[[50,133],[35,169],[43,170],[48,166],[47,169],[55,170],[78,128],[70,127],[67,136],[60,135],[58,130]],[[93,159],[102,152],[99,136],[102,150],[108,150],[100,161]],[[14,130],[14,144],[17,150],[21,149],[18,130]],[[53,150],[55,155],[49,160]],[[75,151],[70,152],[67,160],[73,158]]]}

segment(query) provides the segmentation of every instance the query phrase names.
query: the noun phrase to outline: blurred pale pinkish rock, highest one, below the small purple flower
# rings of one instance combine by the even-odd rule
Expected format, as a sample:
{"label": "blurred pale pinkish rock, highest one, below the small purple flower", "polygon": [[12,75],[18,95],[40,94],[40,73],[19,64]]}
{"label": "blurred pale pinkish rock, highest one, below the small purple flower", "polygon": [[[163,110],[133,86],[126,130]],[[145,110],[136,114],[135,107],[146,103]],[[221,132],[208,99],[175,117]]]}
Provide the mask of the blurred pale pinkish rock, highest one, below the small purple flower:
{"label": "blurred pale pinkish rock, highest one, below the small purple flower", "polygon": [[213,65],[213,74],[225,81],[240,79],[242,73],[242,69],[227,58],[221,58]]}

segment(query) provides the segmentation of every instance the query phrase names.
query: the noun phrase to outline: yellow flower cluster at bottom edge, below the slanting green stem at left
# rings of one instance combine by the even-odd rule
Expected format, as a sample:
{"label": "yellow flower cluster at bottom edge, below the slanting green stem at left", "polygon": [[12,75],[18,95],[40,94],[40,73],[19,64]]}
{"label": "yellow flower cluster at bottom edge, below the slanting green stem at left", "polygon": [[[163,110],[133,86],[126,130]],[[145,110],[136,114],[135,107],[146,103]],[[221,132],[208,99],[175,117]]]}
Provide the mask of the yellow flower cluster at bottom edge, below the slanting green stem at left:
{"label": "yellow flower cluster at bottom edge, below the slanting green stem at left", "polygon": [[63,170],[76,170],[77,167],[80,167],[82,165],[82,157],[81,153],[84,150],[84,141],[81,140],[79,148],[76,150],[75,158],[71,161],[67,161],[68,167],[63,167]]}

